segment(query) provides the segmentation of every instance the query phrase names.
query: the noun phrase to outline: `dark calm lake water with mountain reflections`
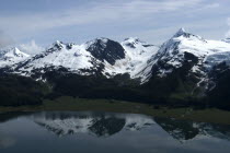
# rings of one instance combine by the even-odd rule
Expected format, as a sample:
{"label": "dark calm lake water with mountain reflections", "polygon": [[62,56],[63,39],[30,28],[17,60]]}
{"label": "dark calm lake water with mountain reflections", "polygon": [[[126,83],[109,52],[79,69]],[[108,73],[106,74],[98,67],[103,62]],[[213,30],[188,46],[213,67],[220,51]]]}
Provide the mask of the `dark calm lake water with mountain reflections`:
{"label": "dark calm lake water with mountain reflections", "polygon": [[230,153],[230,126],[110,113],[0,115],[0,153]]}

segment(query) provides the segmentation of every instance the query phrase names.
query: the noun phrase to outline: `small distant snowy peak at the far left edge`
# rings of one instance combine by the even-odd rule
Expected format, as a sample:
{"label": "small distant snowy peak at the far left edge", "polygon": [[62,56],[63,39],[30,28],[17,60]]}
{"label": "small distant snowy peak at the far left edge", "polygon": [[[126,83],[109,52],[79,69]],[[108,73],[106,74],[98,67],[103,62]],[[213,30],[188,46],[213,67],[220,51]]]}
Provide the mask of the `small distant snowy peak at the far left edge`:
{"label": "small distant snowy peak at the far left edge", "polygon": [[10,67],[27,59],[28,57],[28,55],[20,51],[18,48],[0,50],[0,68]]}

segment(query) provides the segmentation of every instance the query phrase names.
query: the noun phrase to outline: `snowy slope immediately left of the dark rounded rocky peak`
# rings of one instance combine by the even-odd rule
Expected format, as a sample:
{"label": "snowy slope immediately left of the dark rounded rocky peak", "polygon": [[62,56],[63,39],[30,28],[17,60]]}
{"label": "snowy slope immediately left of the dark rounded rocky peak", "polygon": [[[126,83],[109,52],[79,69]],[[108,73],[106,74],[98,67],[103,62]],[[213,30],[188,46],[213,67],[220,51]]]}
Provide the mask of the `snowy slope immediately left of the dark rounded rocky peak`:
{"label": "snowy slope immediately left of the dark rounded rocky peak", "polygon": [[88,75],[82,69],[96,69],[99,61],[85,50],[85,45],[64,44],[56,42],[46,51],[15,64],[15,70],[24,75],[31,75],[33,71],[44,73],[49,69],[66,68],[73,73]]}

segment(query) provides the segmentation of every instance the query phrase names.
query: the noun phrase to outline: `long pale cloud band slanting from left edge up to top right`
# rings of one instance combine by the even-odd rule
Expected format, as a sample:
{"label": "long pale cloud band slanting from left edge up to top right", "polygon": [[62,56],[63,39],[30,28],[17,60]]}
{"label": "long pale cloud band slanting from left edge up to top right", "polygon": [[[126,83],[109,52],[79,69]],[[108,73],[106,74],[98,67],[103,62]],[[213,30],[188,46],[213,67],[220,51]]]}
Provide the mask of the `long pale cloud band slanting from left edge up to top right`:
{"label": "long pale cloud band slanting from left edge up to top right", "polygon": [[91,8],[70,9],[59,12],[45,12],[0,16],[0,27],[7,31],[20,30],[22,33],[47,30],[68,25],[79,25],[113,20],[133,20],[151,13],[172,12],[180,9],[191,9],[203,0],[133,0],[128,2],[107,2],[94,4]]}

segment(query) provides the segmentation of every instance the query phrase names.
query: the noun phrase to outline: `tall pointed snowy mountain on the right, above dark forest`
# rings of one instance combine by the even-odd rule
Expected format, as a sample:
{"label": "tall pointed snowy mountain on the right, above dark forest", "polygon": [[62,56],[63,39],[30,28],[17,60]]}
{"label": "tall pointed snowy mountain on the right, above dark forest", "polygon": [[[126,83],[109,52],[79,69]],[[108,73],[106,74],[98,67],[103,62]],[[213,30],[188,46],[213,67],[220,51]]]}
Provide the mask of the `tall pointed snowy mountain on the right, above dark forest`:
{"label": "tall pointed snowy mountain on the right, above dark forest", "polygon": [[[206,72],[223,61],[229,60],[230,44],[218,40],[206,40],[181,28],[171,39],[165,42],[158,54],[142,70],[148,78],[153,73],[165,76],[174,69],[181,68],[185,62],[193,62],[192,73],[206,75]],[[148,81],[148,78],[146,81]]]}

